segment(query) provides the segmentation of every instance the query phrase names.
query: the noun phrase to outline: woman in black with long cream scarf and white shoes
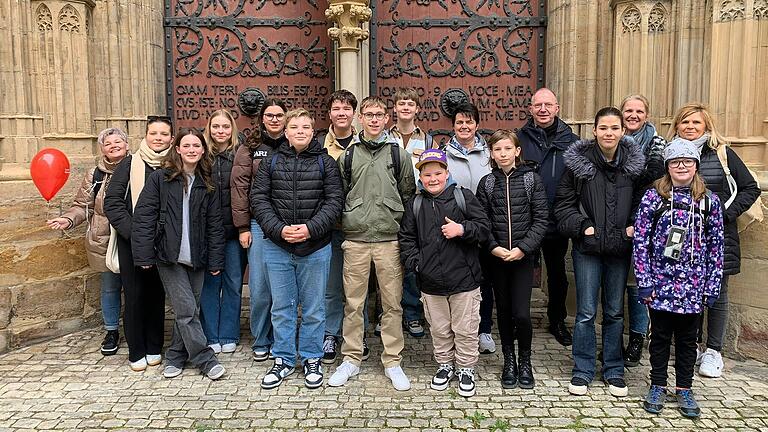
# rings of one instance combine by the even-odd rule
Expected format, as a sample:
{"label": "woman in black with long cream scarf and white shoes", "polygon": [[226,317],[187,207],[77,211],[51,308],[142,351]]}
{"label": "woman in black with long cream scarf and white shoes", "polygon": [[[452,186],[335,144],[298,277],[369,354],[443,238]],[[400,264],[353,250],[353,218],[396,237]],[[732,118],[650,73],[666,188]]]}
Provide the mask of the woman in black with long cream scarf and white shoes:
{"label": "woman in black with long cream scarf and white shoes", "polygon": [[115,168],[104,197],[104,213],[118,233],[120,277],[125,290],[125,340],[128,342],[128,361],[136,372],[143,371],[147,365],[157,366],[162,360],[165,291],[156,267],[142,269],[134,266],[131,252],[133,209],[149,175],[160,168],[168,154],[173,141],[170,117],[147,117],[146,132],[138,151]]}

